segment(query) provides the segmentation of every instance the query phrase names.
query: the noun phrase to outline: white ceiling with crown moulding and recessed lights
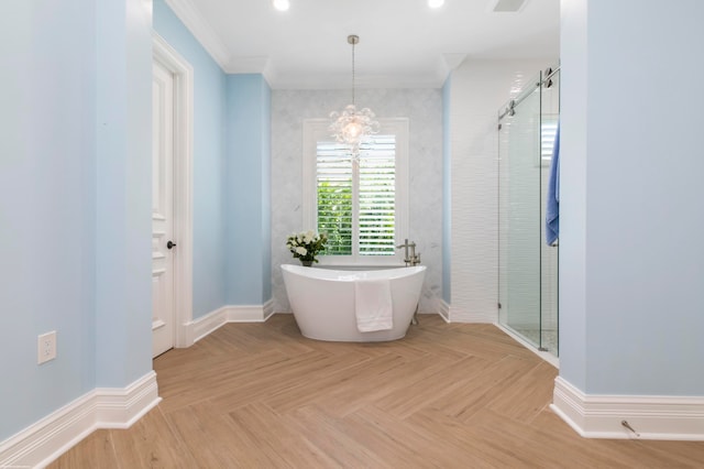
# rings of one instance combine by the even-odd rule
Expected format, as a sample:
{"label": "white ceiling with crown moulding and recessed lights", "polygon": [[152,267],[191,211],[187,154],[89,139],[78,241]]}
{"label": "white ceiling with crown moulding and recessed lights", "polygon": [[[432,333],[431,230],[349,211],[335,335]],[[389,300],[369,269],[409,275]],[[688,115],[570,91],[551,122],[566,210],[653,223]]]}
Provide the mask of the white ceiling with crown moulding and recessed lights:
{"label": "white ceiling with crown moulding and recessed lights", "polygon": [[[560,0],[166,0],[227,73],[275,89],[439,88],[465,57],[559,57]],[[517,12],[496,6],[521,4]],[[510,8],[510,6],[509,6]],[[551,62],[552,63],[552,62]],[[547,64],[550,65],[551,63]]]}

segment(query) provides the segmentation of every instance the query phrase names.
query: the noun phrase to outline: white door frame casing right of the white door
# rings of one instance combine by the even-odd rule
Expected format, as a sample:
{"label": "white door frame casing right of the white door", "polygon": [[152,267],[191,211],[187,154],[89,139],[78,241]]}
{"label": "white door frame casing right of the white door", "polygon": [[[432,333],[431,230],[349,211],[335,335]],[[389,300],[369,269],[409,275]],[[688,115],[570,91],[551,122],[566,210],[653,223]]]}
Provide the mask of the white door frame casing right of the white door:
{"label": "white door frame casing right of the white door", "polygon": [[193,323],[193,114],[194,68],[152,32],[152,59],[174,74],[174,347],[194,343]]}

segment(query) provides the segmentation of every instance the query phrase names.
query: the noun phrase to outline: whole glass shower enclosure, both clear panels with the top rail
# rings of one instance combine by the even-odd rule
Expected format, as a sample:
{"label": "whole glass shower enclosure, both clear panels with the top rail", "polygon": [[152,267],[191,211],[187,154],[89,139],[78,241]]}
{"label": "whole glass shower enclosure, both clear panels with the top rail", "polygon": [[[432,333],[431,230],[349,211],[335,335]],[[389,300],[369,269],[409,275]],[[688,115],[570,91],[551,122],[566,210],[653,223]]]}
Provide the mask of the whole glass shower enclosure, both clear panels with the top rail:
{"label": "whole glass shower enclosure, both clear panels with the top rail", "polygon": [[540,72],[498,112],[498,318],[559,356],[558,251],[546,243],[546,196],[560,109],[560,74]]}

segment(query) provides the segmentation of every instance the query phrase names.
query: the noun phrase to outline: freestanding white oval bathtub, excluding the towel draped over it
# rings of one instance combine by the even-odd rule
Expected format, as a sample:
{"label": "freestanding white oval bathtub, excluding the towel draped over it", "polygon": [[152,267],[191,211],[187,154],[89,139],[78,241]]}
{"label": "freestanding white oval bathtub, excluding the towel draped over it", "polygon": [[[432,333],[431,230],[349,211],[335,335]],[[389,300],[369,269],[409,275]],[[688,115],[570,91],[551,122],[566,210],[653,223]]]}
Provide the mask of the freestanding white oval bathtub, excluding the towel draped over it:
{"label": "freestanding white oval bathtub, excluding the towel draped over it", "polygon": [[[310,339],[374,342],[406,336],[426,275],[425,265],[375,271],[338,271],[283,264],[284,283],[300,332]],[[356,280],[388,279],[393,327],[360,332],[355,316]]]}

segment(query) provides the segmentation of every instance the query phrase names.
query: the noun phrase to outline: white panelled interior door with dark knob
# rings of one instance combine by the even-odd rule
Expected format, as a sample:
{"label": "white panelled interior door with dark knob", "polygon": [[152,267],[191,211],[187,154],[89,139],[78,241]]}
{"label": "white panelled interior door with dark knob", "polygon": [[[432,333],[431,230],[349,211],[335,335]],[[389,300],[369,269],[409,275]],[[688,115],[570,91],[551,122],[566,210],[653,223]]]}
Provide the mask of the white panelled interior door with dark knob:
{"label": "white panelled interior door with dark knob", "polygon": [[175,342],[174,76],[157,62],[152,78],[152,355]]}

